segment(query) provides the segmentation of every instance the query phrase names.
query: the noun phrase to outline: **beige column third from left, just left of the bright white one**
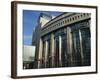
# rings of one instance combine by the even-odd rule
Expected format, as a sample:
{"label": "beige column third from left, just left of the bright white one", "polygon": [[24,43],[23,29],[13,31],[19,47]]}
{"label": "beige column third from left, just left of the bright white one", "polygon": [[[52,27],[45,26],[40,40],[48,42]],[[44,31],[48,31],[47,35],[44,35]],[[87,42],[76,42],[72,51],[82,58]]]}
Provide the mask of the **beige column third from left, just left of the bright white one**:
{"label": "beige column third from left, just left of the bright white one", "polygon": [[52,63],[52,67],[54,67],[54,34],[51,33],[51,63]]}

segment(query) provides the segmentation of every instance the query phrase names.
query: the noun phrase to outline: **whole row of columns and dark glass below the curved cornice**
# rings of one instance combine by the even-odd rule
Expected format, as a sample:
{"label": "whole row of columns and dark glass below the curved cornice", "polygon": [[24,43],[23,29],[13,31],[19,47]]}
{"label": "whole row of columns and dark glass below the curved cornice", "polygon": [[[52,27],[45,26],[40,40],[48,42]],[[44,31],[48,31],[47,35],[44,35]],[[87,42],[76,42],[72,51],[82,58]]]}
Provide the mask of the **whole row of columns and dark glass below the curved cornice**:
{"label": "whole row of columns and dark glass below the curved cornice", "polygon": [[[90,33],[90,26],[84,24],[84,27],[83,25],[81,27],[81,25],[77,24],[74,27],[77,27],[74,31],[70,26],[64,28],[66,30],[64,35],[66,37],[65,44],[63,44],[64,41],[61,32],[57,36],[55,35],[55,31],[41,37],[39,41],[38,68],[90,65],[91,49],[89,43],[91,38],[90,34],[88,34]],[[48,36],[49,39],[47,38]]]}

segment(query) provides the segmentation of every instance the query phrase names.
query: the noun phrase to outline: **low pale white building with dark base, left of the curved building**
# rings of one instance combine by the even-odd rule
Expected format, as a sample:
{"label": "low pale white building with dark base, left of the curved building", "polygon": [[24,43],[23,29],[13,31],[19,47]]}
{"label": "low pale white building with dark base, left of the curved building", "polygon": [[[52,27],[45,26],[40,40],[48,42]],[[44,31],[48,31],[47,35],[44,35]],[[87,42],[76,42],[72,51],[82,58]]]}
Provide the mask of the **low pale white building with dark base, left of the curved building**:
{"label": "low pale white building with dark base, left of the curved building", "polygon": [[33,69],[35,46],[24,45],[23,51],[23,69]]}

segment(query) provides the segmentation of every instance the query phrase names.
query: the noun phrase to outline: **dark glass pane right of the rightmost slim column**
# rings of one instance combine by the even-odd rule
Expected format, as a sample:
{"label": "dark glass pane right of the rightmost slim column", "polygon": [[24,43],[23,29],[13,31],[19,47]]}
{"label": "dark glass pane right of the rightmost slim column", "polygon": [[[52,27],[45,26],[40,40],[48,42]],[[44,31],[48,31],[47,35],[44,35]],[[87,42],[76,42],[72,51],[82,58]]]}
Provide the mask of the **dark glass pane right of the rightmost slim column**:
{"label": "dark glass pane right of the rightmost slim column", "polygon": [[89,28],[81,29],[84,65],[91,63],[91,35]]}

